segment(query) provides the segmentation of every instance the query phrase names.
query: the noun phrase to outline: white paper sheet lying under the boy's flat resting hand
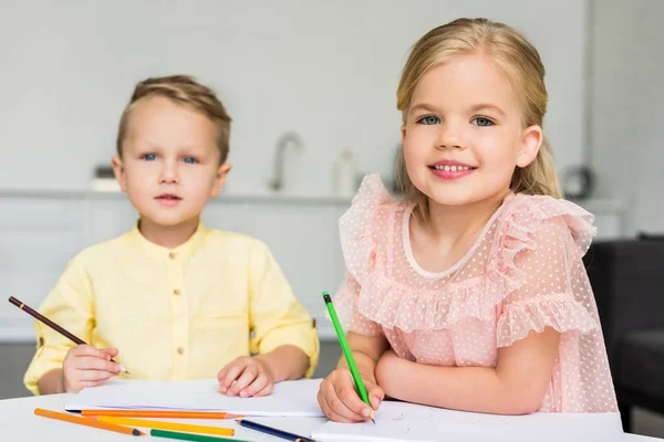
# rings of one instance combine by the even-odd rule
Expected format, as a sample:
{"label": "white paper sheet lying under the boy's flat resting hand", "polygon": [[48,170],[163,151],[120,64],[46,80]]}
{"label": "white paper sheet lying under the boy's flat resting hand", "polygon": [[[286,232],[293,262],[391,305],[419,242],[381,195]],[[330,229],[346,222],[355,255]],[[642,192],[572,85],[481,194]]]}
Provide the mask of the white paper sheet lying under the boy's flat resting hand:
{"label": "white paper sheet lying under the boy's flat resting hand", "polygon": [[323,417],[317,401],[320,379],[280,382],[262,398],[228,397],[217,379],[196,381],[112,380],[86,388],[65,406],[68,411],[121,408],[143,410],[228,411],[252,417]]}

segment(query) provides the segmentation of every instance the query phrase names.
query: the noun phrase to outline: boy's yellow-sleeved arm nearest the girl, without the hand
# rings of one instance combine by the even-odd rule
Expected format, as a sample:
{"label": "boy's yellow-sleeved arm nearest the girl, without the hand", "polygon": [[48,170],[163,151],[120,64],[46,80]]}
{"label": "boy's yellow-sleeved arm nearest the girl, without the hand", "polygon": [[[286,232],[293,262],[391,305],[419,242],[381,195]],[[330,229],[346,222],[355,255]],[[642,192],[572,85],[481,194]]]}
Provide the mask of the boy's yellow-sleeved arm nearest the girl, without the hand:
{"label": "boy's yellow-sleeved arm nearest the girl, without the hand", "polygon": [[320,351],[311,317],[260,241],[255,244],[250,265],[251,352],[266,362],[274,382],[310,377]]}

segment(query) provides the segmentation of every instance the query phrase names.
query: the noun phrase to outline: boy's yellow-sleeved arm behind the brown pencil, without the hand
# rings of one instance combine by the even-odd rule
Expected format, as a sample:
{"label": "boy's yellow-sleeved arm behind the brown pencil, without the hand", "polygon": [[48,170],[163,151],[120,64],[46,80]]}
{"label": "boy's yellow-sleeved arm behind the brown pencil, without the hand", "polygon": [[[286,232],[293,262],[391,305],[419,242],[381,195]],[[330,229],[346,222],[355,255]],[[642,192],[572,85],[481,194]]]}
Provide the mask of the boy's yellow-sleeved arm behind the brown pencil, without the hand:
{"label": "boy's yellow-sleeved arm behind the brown pencil, without the hand", "polygon": [[[90,343],[94,323],[92,285],[77,257],[68,264],[39,312]],[[75,344],[38,320],[34,332],[37,351],[23,377],[25,388],[33,394],[62,392],[62,364]]]}

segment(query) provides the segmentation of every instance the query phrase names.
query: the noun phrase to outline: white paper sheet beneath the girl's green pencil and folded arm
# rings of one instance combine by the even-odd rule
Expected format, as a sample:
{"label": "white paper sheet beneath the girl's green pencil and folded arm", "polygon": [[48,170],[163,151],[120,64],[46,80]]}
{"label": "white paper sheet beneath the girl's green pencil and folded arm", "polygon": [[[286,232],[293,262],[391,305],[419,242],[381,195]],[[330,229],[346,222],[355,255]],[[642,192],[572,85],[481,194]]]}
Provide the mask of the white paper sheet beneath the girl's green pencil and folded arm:
{"label": "white paper sheet beneath the girl's green pencil and folded arm", "polygon": [[[622,435],[619,413],[563,414],[533,413],[528,415],[495,415],[468,413],[415,406],[403,402],[383,402],[375,413],[376,424],[328,422],[317,429],[312,438],[320,441],[357,442],[450,442],[454,440],[496,441],[539,440],[547,434],[561,436],[592,436],[612,440]],[[450,436],[458,436],[460,439]],[[490,438],[490,439],[489,439]],[[515,439],[517,438],[517,439]],[[518,439],[523,438],[523,439]],[[502,440],[501,438],[499,440]],[[579,440],[584,440],[583,438]],[[594,439],[588,439],[594,440]]]}

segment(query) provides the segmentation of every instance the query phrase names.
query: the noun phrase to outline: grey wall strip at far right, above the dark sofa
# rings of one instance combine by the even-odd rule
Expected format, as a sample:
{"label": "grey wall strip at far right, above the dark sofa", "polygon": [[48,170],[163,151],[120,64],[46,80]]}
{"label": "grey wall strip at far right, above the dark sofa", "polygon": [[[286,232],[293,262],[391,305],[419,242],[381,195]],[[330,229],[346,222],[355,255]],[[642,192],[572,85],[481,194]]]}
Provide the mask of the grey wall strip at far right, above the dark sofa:
{"label": "grey wall strip at far right, above the dark sofa", "polygon": [[664,232],[664,1],[594,0],[592,165],[627,232]]}

